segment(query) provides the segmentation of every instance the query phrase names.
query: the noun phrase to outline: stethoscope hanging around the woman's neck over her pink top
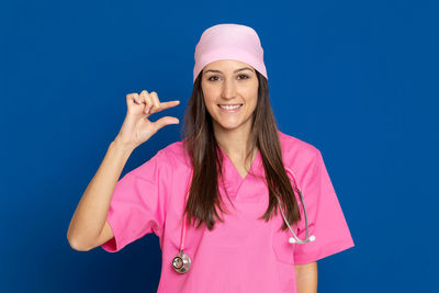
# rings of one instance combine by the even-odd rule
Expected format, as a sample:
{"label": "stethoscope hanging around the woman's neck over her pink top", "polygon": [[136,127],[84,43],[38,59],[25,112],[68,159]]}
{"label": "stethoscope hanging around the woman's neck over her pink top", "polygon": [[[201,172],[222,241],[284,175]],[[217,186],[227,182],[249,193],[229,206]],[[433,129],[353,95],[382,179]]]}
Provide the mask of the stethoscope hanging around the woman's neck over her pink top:
{"label": "stethoscope hanging around the woman's neck over her pink top", "polygon": [[[286,168],[286,171],[290,172],[290,174],[293,177],[293,181],[294,181],[294,189],[299,192],[299,194],[301,195],[301,202],[302,202],[302,206],[303,206],[303,213],[305,215],[305,226],[306,226],[306,236],[304,240],[301,240],[297,238],[297,236],[294,234],[293,229],[291,228],[285,214],[283,213],[282,206],[280,204],[280,200],[279,196],[278,198],[278,204],[279,204],[279,209],[281,210],[282,216],[283,216],[283,221],[285,221],[291,234],[293,235],[292,237],[290,237],[289,243],[290,244],[306,244],[309,241],[314,241],[315,240],[315,236],[311,235],[308,237],[308,219],[307,219],[307,215],[306,215],[306,209],[305,209],[305,203],[303,200],[303,194],[301,189],[299,189],[299,184],[295,181],[295,176],[293,173],[293,171],[291,171],[289,168]],[[190,177],[191,178],[191,177]],[[188,191],[184,195],[184,203],[187,202],[187,198],[188,198]],[[180,252],[172,259],[172,268],[176,270],[176,272],[178,273],[185,273],[187,271],[189,271],[189,268],[191,267],[191,259],[190,257],[184,253],[183,249],[184,249],[184,239],[185,239],[185,214],[184,214],[184,219],[182,223],[183,227],[182,227],[182,232],[181,232],[181,238],[180,238]]]}

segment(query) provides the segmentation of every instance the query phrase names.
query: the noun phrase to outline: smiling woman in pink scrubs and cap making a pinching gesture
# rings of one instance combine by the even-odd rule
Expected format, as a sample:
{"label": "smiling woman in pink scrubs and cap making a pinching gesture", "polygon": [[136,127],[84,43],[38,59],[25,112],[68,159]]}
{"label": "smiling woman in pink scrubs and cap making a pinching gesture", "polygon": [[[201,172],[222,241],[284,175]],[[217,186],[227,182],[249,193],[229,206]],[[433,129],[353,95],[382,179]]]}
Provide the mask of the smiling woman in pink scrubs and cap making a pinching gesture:
{"label": "smiling woman in pink scrubs and cap making a pinching gesture", "polygon": [[179,123],[148,121],[179,101],[127,94],[122,128],[71,219],[71,247],[114,252],[154,232],[158,292],[316,292],[316,261],[353,241],[320,151],[278,131],[257,33],[209,27],[193,83],[184,138],[119,180],[137,146]]}

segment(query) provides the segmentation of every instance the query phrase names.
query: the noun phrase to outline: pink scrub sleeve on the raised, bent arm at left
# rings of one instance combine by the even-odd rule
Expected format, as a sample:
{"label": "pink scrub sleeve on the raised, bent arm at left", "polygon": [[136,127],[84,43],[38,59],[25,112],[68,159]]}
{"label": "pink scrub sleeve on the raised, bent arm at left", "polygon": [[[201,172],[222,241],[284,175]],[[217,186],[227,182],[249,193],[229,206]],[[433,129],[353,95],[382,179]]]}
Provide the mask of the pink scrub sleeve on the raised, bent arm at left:
{"label": "pink scrub sleeve on the raised, bent arm at left", "polygon": [[158,151],[117,181],[106,216],[114,237],[101,245],[104,250],[116,252],[153,232],[161,237],[166,201],[164,178],[169,176],[165,165],[164,155]]}

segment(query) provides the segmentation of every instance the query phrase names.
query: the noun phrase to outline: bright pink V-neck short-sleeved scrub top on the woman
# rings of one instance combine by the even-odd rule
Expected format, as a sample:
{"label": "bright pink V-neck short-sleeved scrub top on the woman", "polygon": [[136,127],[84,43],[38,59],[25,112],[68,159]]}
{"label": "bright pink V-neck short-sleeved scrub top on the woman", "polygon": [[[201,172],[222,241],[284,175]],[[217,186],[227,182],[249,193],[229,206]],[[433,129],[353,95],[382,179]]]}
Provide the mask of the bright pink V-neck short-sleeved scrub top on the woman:
{"label": "bright pink V-neck short-sleeved scrub top on the woman", "polygon": [[[268,206],[267,185],[257,178],[264,176],[259,151],[243,179],[221,150],[225,181],[218,182],[219,194],[229,213],[222,215],[224,223],[216,221],[212,232],[204,225],[199,229],[188,225],[184,252],[191,258],[191,267],[185,273],[176,272],[171,262],[179,252],[184,195],[191,179],[190,160],[182,142],[177,142],[119,180],[108,214],[114,238],[101,247],[115,252],[154,232],[162,252],[159,293],[296,292],[294,264],[313,262],[354,245],[320,151],[278,133],[284,166],[294,172],[302,189],[309,235],[315,235],[315,241],[290,244],[290,229],[279,229],[283,224],[279,211],[268,223],[258,219]],[[296,199],[301,203],[299,195]],[[301,204],[300,210],[302,221],[291,227],[304,239]]]}

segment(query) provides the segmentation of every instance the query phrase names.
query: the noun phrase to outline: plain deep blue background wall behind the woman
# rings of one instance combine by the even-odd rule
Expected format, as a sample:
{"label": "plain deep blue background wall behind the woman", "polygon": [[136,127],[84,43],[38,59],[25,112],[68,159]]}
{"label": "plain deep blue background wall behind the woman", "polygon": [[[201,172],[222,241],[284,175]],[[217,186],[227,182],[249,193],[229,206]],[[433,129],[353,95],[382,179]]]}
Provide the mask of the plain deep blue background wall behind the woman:
{"label": "plain deep blue background wall behind the woman", "polygon": [[[76,251],[67,229],[146,89],[181,104],[217,23],[254,27],[280,129],[320,149],[356,247],[318,261],[319,292],[439,292],[437,1],[2,1],[1,292],[156,292],[156,235]],[[122,174],[180,140],[168,125]],[[168,266],[168,263],[165,263]],[[293,273],[293,272],[292,272]]]}

